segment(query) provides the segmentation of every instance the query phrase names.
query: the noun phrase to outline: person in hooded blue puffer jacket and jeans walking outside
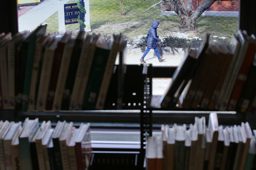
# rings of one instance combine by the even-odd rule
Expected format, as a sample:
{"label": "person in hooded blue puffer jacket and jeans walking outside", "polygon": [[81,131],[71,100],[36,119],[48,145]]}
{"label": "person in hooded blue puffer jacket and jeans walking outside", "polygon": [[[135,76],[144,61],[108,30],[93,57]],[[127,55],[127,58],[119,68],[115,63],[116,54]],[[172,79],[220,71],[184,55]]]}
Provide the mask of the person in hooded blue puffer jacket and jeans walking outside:
{"label": "person in hooded blue puffer jacket and jeans walking outside", "polygon": [[157,42],[161,41],[164,42],[164,40],[161,40],[158,38],[157,36],[157,31],[156,29],[160,26],[160,23],[158,21],[153,21],[151,27],[148,30],[148,41],[147,41],[147,49],[144,52],[144,54],[142,55],[140,62],[142,63],[146,63],[144,61],[145,56],[148,54],[149,50],[151,48],[153,48],[155,50],[156,56],[158,58],[158,61],[161,63],[162,61],[164,61],[165,59],[160,58],[159,54],[158,54],[158,49],[157,49]]}

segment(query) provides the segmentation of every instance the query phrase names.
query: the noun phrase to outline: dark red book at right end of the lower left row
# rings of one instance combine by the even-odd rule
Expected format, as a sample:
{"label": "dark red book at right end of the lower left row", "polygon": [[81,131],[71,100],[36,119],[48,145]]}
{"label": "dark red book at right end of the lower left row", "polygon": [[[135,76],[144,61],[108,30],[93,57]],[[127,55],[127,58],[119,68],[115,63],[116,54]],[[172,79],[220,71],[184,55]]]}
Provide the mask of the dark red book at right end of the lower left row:
{"label": "dark red book at right end of the lower left row", "polygon": [[90,123],[81,123],[75,138],[77,169],[88,169],[92,158]]}

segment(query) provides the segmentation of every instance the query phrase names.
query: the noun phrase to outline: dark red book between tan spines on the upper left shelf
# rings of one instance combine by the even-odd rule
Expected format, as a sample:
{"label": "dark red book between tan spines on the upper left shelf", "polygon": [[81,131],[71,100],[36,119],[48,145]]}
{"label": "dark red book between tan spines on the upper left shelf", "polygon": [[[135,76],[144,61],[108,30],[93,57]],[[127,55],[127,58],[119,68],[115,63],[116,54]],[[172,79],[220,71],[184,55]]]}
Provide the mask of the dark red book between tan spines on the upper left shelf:
{"label": "dark red book between tan spines on the upper left shelf", "polygon": [[52,103],[54,99],[58,76],[60,73],[60,64],[62,60],[62,55],[64,52],[65,44],[68,42],[68,40],[70,40],[70,38],[71,38],[71,34],[65,33],[63,37],[60,39],[60,41],[58,41],[55,54],[54,54],[53,63],[52,63],[52,74],[50,78],[49,90],[48,90],[46,106],[45,106],[46,110],[52,110]]}

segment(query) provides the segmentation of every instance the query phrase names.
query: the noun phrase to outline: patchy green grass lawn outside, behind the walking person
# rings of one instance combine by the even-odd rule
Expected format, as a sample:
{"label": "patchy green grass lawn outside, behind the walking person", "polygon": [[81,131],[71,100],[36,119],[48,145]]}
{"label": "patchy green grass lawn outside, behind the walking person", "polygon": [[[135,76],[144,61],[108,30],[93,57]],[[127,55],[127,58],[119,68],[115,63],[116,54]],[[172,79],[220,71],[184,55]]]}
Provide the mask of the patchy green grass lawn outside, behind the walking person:
{"label": "patchy green grass lawn outside, behind the walking person", "polygon": [[[70,0],[67,4],[76,3]],[[172,35],[179,32],[180,18],[178,16],[161,16],[160,11],[151,9],[145,12],[149,6],[153,5],[151,0],[129,0],[124,1],[126,15],[121,15],[119,1],[116,0],[90,0],[90,25],[91,33],[122,33],[128,38],[139,35],[146,35],[149,27],[154,20],[160,22],[157,33],[160,37]],[[47,26],[47,31],[58,31],[58,12],[55,12],[44,22],[51,23]],[[139,26],[123,27],[113,29],[113,26],[127,23],[138,22]],[[112,26],[112,29],[99,30],[102,26]],[[79,30],[79,24],[66,25],[66,30]],[[115,27],[114,27],[115,28]],[[217,38],[231,39],[233,33],[237,33],[238,18],[236,17],[199,17],[196,21],[195,31],[188,31],[191,37],[204,38],[206,33]],[[90,33],[90,32],[89,32]]]}

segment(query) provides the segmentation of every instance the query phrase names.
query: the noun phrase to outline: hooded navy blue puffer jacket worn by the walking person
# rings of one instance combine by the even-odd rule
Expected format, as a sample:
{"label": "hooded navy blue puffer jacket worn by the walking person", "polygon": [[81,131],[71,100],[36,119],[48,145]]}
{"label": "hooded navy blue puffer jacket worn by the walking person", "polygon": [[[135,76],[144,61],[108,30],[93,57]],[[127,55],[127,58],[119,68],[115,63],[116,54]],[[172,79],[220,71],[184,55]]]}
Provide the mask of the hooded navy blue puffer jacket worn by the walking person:
{"label": "hooded navy blue puffer jacket worn by the walking person", "polygon": [[148,30],[148,43],[147,43],[147,48],[157,48],[157,41],[161,41],[161,39],[157,38],[157,31],[156,27],[159,25],[158,21],[153,21],[152,26]]}

